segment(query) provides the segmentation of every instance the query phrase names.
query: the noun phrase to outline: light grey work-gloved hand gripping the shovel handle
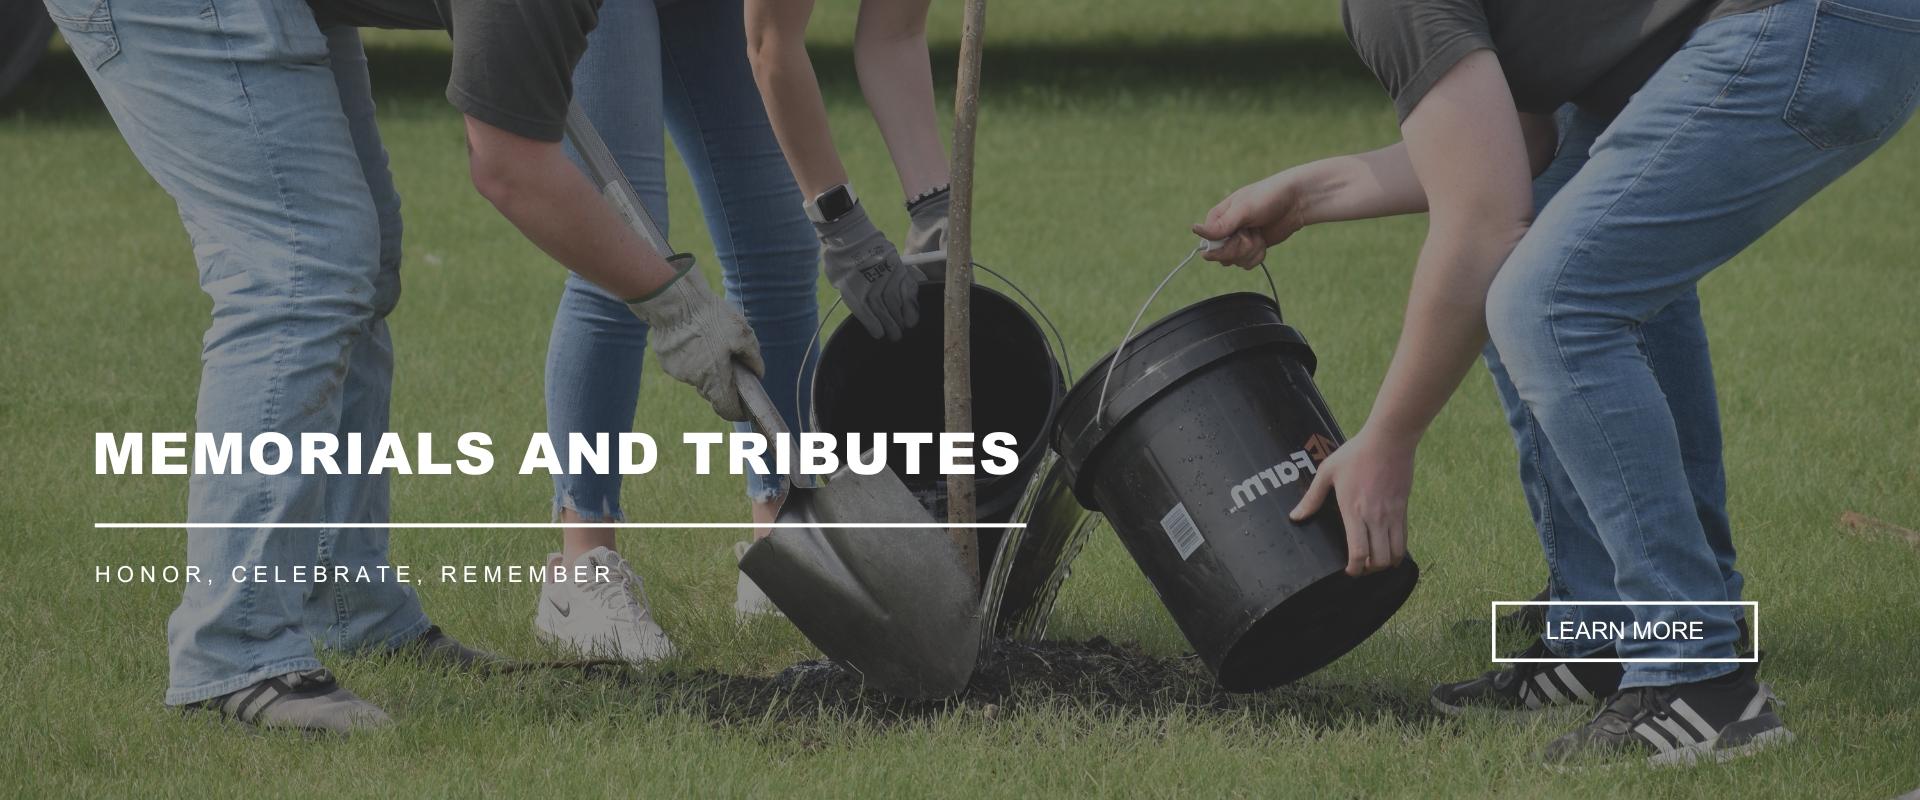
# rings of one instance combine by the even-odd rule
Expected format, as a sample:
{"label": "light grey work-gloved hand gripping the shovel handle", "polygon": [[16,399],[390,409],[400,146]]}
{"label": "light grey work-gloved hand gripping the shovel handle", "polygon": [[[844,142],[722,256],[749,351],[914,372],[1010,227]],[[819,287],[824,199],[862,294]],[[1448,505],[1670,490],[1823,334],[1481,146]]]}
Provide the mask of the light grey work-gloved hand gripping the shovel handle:
{"label": "light grey work-gloved hand gripping the shovel handle", "polygon": [[699,389],[720,418],[745,420],[747,403],[739,399],[739,386],[733,382],[733,361],[747,365],[753,374],[766,372],[760,343],[747,318],[707,288],[691,255],[680,253],[666,263],[678,267],[680,274],[651,295],[626,301],[626,307],[653,328],[647,340],[666,374]]}

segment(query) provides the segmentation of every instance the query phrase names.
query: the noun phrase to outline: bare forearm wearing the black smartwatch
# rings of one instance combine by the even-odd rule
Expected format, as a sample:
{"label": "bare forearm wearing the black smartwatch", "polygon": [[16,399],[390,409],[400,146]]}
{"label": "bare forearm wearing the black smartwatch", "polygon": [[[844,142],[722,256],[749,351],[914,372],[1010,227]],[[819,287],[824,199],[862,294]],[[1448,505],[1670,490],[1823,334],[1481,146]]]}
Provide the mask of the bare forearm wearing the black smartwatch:
{"label": "bare forearm wearing the black smartwatch", "polygon": [[806,198],[847,182],[847,167],[833,150],[828,106],[806,59],[806,19],[812,13],[812,0],[747,0],[753,81],[760,86],[780,152],[787,155]]}

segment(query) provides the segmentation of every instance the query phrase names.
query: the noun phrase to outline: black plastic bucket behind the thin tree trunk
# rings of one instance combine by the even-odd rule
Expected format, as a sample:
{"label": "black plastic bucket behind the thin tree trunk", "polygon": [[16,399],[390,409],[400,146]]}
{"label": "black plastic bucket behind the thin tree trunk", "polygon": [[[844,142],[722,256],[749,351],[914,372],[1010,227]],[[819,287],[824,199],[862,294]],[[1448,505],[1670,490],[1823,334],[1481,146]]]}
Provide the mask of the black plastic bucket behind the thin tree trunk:
{"label": "black plastic bucket behind the thin tree trunk", "polygon": [[[979,522],[1008,522],[1046,453],[1046,432],[1066,393],[1066,374],[1027,309],[979,284],[972,301],[973,430],[979,435],[1014,434],[1020,455],[1020,468],[1012,474],[981,470],[973,476],[975,516]],[[862,437],[947,430],[945,318],[943,284],[927,282],[920,286],[920,324],[908,328],[900,341],[876,340],[858,320],[843,320],[820,347],[814,366],[814,430]],[[920,474],[900,474],[900,482],[935,520],[945,520],[947,480],[937,464],[927,462],[929,457],[931,449],[922,453]],[[904,447],[895,445],[887,464],[899,474],[904,462]],[[993,558],[996,543],[998,531],[981,531],[983,570],[991,566],[985,560]]]}

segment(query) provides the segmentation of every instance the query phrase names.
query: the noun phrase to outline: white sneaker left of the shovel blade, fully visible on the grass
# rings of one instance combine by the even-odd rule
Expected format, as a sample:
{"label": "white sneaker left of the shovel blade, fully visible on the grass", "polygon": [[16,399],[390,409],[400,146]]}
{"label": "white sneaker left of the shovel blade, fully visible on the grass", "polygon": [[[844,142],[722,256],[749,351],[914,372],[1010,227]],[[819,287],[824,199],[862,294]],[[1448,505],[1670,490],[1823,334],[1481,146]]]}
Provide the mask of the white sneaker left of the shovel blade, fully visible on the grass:
{"label": "white sneaker left of the shovel blade, fully visible on the grass", "polygon": [[[563,645],[591,658],[618,658],[647,664],[674,654],[674,643],[653,622],[647,589],[618,553],[595,547],[580,556],[588,570],[605,566],[605,581],[555,581],[553,572],[570,577],[559,553],[547,556],[549,579],[540,587],[534,631],[541,641]],[[589,572],[597,576],[599,572]]]}

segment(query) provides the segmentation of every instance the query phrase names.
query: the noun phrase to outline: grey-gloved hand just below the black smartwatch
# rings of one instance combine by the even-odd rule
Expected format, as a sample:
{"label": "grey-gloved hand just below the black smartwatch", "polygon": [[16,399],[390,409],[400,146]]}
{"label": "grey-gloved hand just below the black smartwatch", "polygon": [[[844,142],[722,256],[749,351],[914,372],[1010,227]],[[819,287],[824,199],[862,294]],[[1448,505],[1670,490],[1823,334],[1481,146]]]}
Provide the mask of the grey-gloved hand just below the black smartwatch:
{"label": "grey-gloved hand just below the black smartwatch", "polygon": [[814,230],[820,232],[828,280],[868,336],[899,341],[906,328],[920,322],[920,284],[925,276],[918,267],[900,263],[900,253],[866,219],[864,207],[854,203],[841,219],[814,223]]}

